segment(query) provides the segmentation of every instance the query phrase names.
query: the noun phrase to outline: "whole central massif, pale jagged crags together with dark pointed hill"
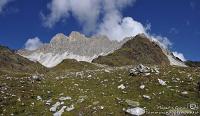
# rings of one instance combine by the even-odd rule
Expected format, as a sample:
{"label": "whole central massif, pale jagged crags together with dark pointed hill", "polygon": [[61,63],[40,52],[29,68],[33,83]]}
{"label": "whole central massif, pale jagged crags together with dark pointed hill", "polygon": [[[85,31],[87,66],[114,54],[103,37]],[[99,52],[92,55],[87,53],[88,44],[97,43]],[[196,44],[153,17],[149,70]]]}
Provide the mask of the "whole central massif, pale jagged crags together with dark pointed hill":
{"label": "whole central massif, pale jagged crags together with dark pointed hill", "polygon": [[[116,50],[116,51],[115,51]],[[29,51],[19,50],[21,56],[38,61],[48,68],[55,67],[64,59],[95,62],[111,66],[130,64],[159,64],[186,66],[169,50],[160,47],[144,34],[127,37],[123,41],[111,41],[106,36],[86,37],[79,32],[71,32],[69,36],[56,34],[40,48]]]}

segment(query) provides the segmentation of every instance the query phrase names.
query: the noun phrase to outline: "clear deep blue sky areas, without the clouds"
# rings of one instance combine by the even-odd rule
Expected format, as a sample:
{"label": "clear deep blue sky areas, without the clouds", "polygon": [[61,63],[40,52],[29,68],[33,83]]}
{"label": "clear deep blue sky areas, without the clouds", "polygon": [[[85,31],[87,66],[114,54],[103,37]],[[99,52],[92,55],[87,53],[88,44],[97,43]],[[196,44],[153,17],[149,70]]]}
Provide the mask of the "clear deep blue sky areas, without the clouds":
{"label": "clear deep blue sky areas, without the clouds", "polygon": [[[20,49],[29,38],[38,37],[42,42],[49,42],[57,33],[94,33],[83,29],[87,21],[78,20],[76,11],[66,10],[68,13],[54,21],[53,26],[46,25],[52,12],[47,7],[50,3],[50,0],[12,0],[2,6],[0,0],[0,44]],[[117,9],[122,18],[132,17],[144,27],[151,25],[148,32],[152,35],[167,37],[172,51],[183,53],[186,59],[200,60],[199,0],[136,0]],[[99,15],[97,25],[104,20],[104,15]]]}

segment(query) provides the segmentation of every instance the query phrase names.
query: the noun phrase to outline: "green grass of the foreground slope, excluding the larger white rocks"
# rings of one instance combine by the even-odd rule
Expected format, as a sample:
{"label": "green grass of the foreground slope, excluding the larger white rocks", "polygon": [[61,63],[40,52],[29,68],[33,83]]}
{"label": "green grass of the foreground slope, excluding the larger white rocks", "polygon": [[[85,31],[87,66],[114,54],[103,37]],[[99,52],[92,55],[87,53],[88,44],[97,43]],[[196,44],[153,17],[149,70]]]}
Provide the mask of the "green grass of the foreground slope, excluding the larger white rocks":
{"label": "green grass of the foreground slope, excluding the larger white rocks", "polygon": [[[45,101],[52,98],[52,104],[54,104],[61,93],[64,94],[63,96],[72,97],[72,100],[65,101],[65,105],[75,105],[75,110],[65,111],[64,115],[82,113],[123,116],[125,113],[122,109],[128,107],[123,101],[125,99],[140,102],[140,107],[146,107],[148,111],[162,111],[157,109],[157,105],[186,107],[188,103],[200,104],[196,90],[196,83],[200,80],[198,68],[161,67],[159,75],[147,77],[130,77],[127,68],[107,68],[106,70],[110,71],[83,70],[78,73],[57,73],[57,76],[47,73],[44,80],[34,83],[31,83],[27,77],[8,78],[8,75],[2,75],[0,77],[1,90],[4,87],[7,90],[3,90],[5,93],[0,94],[0,114],[52,115],[49,111],[50,106],[45,105]],[[161,86],[158,78],[167,81],[167,86]],[[173,80],[177,78],[180,80],[174,82]],[[126,89],[118,89],[120,84],[124,84]],[[146,90],[139,88],[141,84],[146,86]],[[188,91],[189,94],[182,95],[182,91]],[[87,96],[85,101],[77,103],[78,97],[85,95]],[[144,99],[142,95],[149,95],[152,99]],[[41,96],[43,101],[37,100],[37,96]],[[17,101],[18,98],[21,98],[21,101]],[[122,99],[122,102],[119,103],[116,98]],[[99,103],[94,105],[95,101]],[[104,106],[104,109],[99,109],[99,106]]]}

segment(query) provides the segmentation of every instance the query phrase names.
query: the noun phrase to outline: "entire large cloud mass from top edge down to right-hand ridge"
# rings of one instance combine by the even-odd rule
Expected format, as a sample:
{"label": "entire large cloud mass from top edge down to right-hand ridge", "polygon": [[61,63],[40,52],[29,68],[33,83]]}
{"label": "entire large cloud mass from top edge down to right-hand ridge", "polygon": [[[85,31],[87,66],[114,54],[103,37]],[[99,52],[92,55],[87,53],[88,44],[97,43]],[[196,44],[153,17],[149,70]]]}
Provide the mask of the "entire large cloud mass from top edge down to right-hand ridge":
{"label": "entire large cloud mass from top edge down to right-hand ridge", "polygon": [[172,45],[167,37],[151,34],[151,24],[144,26],[132,17],[123,17],[122,10],[134,5],[136,0],[52,0],[42,14],[43,23],[52,28],[56,23],[73,16],[86,34],[106,35],[111,40],[121,41],[125,37],[144,33],[163,48]]}

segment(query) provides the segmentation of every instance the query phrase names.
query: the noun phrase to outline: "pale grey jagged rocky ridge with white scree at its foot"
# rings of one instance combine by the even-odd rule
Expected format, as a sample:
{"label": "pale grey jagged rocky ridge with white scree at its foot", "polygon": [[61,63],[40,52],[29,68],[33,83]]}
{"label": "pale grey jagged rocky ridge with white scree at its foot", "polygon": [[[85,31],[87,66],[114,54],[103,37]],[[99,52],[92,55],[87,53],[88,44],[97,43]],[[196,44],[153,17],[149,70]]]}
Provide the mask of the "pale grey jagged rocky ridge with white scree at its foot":
{"label": "pale grey jagged rocky ridge with white scree at its foot", "polygon": [[91,62],[99,55],[107,55],[121,46],[121,42],[111,41],[106,36],[86,37],[78,32],[69,36],[55,35],[50,43],[37,50],[19,50],[18,54],[32,61],[38,61],[46,67],[54,67],[64,59]]}

